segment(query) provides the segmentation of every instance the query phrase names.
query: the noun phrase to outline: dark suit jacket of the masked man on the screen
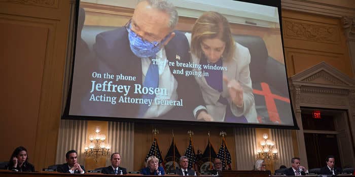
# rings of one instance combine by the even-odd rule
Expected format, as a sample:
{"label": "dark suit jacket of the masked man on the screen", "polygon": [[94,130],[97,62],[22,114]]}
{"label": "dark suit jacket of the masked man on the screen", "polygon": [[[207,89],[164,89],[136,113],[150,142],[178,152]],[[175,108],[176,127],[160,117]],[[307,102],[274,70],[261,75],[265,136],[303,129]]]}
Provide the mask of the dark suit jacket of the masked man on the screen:
{"label": "dark suit jacket of the masked man on the screen", "polygon": [[[168,42],[164,47],[167,60],[169,62],[188,63],[190,62],[189,54],[189,43],[186,36],[175,31],[175,36]],[[141,98],[141,94],[134,94],[134,84],[143,84],[143,73],[141,66],[141,58],[135,56],[129,46],[128,32],[125,27],[120,27],[116,30],[105,31],[96,36],[96,43],[93,45],[93,51],[95,53],[95,60],[92,66],[95,66],[91,72],[97,73],[111,73],[111,74],[123,74],[126,76],[135,76],[135,81],[132,80],[118,80],[113,79],[113,84],[117,85],[129,85],[130,91],[128,95],[118,92],[93,92],[90,93],[91,87],[82,89],[86,96],[82,101],[82,109],[84,115],[93,116],[107,116],[107,117],[137,117],[139,110],[139,104],[132,103],[119,103],[119,99],[129,97],[129,98]],[[177,57],[179,56],[179,57]],[[176,120],[191,120],[196,121],[193,115],[193,110],[199,106],[204,105],[201,92],[199,91],[198,84],[192,76],[185,76],[184,74],[174,74],[173,71],[181,70],[181,66],[169,66],[171,74],[177,81],[177,98],[176,100],[183,99],[183,106],[174,106],[164,115],[160,117],[168,117],[170,119]],[[185,68],[186,70],[186,68]],[[91,75],[89,75],[91,77]],[[102,75],[103,77],[103,75]],[[104,80],[102,78],[92,78],[92,81],[96,83],[102,83]],[[74,90],[75,88],[73,88]],[[113,96],[117,97],[116,105],[110,102],[97,102],[89,101],[91,95],[94,94],[95,97],[99,95]],[[79,98],[78,98],[79,97]],[[78,95],[72,95],[74,99],[80,99]],[[74,111],[72,109],[70,111]],[[76,114],[75,112],[73,112]],[[152,117],[154,118],[154,117]],[[184,119],[183,119],[184,118]]]}

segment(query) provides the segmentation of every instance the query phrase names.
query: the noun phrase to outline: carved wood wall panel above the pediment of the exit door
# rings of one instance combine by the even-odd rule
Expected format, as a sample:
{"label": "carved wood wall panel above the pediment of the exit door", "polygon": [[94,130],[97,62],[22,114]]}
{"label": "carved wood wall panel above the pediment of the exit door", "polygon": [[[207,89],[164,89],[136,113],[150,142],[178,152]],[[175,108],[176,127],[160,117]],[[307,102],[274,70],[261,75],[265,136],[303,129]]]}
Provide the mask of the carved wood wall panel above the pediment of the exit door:
{"label": "carved wood wall panel above the pediment of the exit door", "polygon": [[340,18],[282,10],[288,76],[322,61],[353,76]]}

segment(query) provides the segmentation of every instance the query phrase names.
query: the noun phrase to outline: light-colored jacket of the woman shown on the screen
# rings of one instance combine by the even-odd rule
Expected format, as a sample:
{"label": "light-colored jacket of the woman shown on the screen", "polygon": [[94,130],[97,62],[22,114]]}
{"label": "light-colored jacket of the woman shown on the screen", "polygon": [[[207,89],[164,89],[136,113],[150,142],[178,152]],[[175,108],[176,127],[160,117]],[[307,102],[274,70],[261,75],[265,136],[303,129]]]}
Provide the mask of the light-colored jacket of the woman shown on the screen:
{"label": "light-colored jacket of the woman shown on the screen", "polygon": [[[185,34],[191,43],[191,34]],[[223,91],[222,93],[215,90],[207,84],[205,77],[195,76],[197,83],[200,86],[202,97],[205,101],[207,112],[211,114],[212,117],[217,121],[224,121],[226,115],[226,107],[229,106],[232,114],[234,116],[244,116],[248,122],[256,123],[257,121],[257,112],[255,109],[254,94],[252,89],[252,79],[250,77],[250,53],[249,50],[239,43],[235,42],[235,51],[234,58],[230,61],[225,59],[223,60],[223,66],[227,67],[227,71],[223,71],[223,75],[227,76],[228,79],[235,79],[239,81],[240,85],[243,88],[243,107],[238,108],[235,106],[229,96],[229,91],[227,84],[223,82]],[[194,63],[200,63],[201,59],[197,58],[195,55],[192,55],[192,61]],[[198,71],[197,69],[195,69]],[[221,78],[222,79],[222,78]],[[219,102],[220,97],[226,98],[229,105],[224,105]]]}

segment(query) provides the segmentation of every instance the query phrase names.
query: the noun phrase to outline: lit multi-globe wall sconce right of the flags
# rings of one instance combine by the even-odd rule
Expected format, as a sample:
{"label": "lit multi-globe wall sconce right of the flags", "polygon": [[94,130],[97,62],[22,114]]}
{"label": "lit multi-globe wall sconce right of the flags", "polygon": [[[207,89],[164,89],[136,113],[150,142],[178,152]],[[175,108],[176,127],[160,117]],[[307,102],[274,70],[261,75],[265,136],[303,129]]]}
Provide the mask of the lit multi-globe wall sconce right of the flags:
{"label": "lit multi-globe wall sconce right of the flags", "polygon": [[275,142],[267,138],[268,135],[263,134],[264,140],[260,142],[261,148],[259,147],[257,149],[257,158],[266,161],[277,160],[277,148],[275,147]]}

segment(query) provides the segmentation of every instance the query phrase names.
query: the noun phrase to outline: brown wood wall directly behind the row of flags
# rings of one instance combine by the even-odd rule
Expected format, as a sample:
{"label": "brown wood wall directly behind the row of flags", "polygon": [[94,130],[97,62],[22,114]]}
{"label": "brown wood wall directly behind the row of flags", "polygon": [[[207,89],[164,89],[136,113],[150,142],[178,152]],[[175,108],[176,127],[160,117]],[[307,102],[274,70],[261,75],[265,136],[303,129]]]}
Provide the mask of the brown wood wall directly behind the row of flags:
{"label": "brown wood wall directly behind the row of flags", "polygon": [[152,134],[152,129],[155,127],[159,130],[157,134],[158,145],[162,152],[163,158],[171,145],[172,134],[174,132],[174,141],[180,155],[184,155],[185,151],[189,145],[189,135],[187,131],[190,129],[194,131],[193,143],[195,148],[195,153],[197,150],[201,150],[202,153],[206,148],[208,143],[208,130],[210,131],[211,144],[214,147],[216,153],[222,144],[220,138],[220,130],[224,130],[227,133],[227,147],[232,157],[232,169],[236,169],[235,162],[235,146],[234,146],[234,136],[232,127],[216,127],[216,126],[201,126],[201,125],[162,125],[155,124],[141,124],[135,123],[135,134],[134,134],[134,170],[139,170],[144,167],[144,162],[148,151],[153,143],[154,135]]}

